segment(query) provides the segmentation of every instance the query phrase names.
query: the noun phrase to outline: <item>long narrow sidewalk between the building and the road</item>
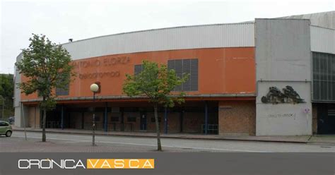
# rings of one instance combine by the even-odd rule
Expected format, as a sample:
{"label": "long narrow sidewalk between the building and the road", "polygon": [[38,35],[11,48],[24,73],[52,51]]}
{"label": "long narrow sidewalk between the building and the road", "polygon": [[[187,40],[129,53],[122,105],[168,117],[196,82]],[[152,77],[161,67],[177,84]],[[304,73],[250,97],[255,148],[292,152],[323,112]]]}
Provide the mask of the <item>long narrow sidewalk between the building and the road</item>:
{"label": "long narrow sidewalk between the building and the road", "polygon": [[[23,128],[16,128],[14,131],[24,131]],[[26,131],[41,132],[41,128],[26,128]],[[74,134],[92,134],[90,130],[81,129],[58,129],[47,128],[47,133],[74,133]],[[113,136],[131,136],[131,137],[152,137],[155,138],[155,133],[151,132],[121,132],[121,131],[95,131],[96,135],[113,135]],[[333,136],[255,136],[255,135],[202,135],[190,133],[161,133],[161,138],[183,138],[183,139],[203,139],[203,140],[240,140],[240,141],[259,141],[259,142],[280,142],[280,143],[314,143],[314,144],[329,144],[335,145],[335,135]]]}

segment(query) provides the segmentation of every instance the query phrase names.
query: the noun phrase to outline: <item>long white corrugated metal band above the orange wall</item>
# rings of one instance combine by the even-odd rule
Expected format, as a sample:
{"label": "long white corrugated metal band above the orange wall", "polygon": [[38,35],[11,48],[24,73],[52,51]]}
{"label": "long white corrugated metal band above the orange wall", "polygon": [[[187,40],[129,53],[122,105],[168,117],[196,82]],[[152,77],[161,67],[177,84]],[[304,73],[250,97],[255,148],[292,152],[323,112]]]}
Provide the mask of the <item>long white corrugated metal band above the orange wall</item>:
{"label": "long white corrugated metal band above the orange wall", "polygon": [[63,44],[72,59],[174,49],[254,47],[254,23],[164,28]]}

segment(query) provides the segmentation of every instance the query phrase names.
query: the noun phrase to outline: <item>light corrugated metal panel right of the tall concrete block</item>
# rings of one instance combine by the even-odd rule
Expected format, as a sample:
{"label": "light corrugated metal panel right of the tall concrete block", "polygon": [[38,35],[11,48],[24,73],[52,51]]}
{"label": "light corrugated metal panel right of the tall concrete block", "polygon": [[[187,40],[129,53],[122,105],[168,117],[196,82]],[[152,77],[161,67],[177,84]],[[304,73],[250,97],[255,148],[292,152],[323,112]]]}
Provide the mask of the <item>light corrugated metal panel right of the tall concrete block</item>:
{"label": "light corrugated metal panel right of the tall concrete block", "polygon": [[335,54],[335,30],[311,26],[310,45],[313,52]]}

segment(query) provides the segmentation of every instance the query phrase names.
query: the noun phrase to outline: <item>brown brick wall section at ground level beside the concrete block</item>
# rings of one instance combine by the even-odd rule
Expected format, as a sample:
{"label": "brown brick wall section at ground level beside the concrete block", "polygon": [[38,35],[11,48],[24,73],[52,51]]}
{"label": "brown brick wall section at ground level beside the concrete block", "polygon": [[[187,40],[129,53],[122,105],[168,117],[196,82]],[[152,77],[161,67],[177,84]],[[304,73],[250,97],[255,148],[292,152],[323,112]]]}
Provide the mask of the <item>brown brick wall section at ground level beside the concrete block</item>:
{"label": "brown brick wall section at ground level beside the concrete block", "polygon": [[219,102],[220,135],[254,135],[256,104],[254,101]]}

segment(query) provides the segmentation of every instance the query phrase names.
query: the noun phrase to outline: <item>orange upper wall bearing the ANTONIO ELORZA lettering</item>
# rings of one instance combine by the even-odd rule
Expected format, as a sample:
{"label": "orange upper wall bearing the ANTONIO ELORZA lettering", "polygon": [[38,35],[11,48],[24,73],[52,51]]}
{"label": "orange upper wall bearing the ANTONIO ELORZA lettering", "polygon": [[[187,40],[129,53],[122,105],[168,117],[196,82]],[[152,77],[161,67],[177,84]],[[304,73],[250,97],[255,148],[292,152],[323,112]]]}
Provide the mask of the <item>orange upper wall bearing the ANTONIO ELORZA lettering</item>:
{"label": "orange upper wall bearing the ANTONIO ELORZA lettering", "polygon": [[[114,59],[113,59],[114,58]],[[106,60],[124,61],[119,64],[105,64]],[[129,58],[129,59],[127,59]],[[238,94],[255,92],[255,60],[254,47],[216,48],[216,49],[182,49],[160,52],[140,52],[134,54],[115,54],[99,56],[90,59],[73,61],[77,67],[78,76],[70,85],[69,96],[61,97],[90,97],[90,85],[99,81],[102,85],[102,95],[122,95],[122,84],[126,73],[134,73],[134,65],[141,64],[142,60],[155,61],[167,64],[170,59],[198,59],[199,60],[199,87],[197,92],[187,92],[192,95],[206,94]],[[86,66],[88,61],[100,61],[100,66]],[[95,62],[95,63],[98,63]],[[79,74],[104,73],[119,71],[119,76],[81,79]],[[24,81],[25,78],[22,78]],[[37,95],[26,96],[21,99],[35,99]]]}

